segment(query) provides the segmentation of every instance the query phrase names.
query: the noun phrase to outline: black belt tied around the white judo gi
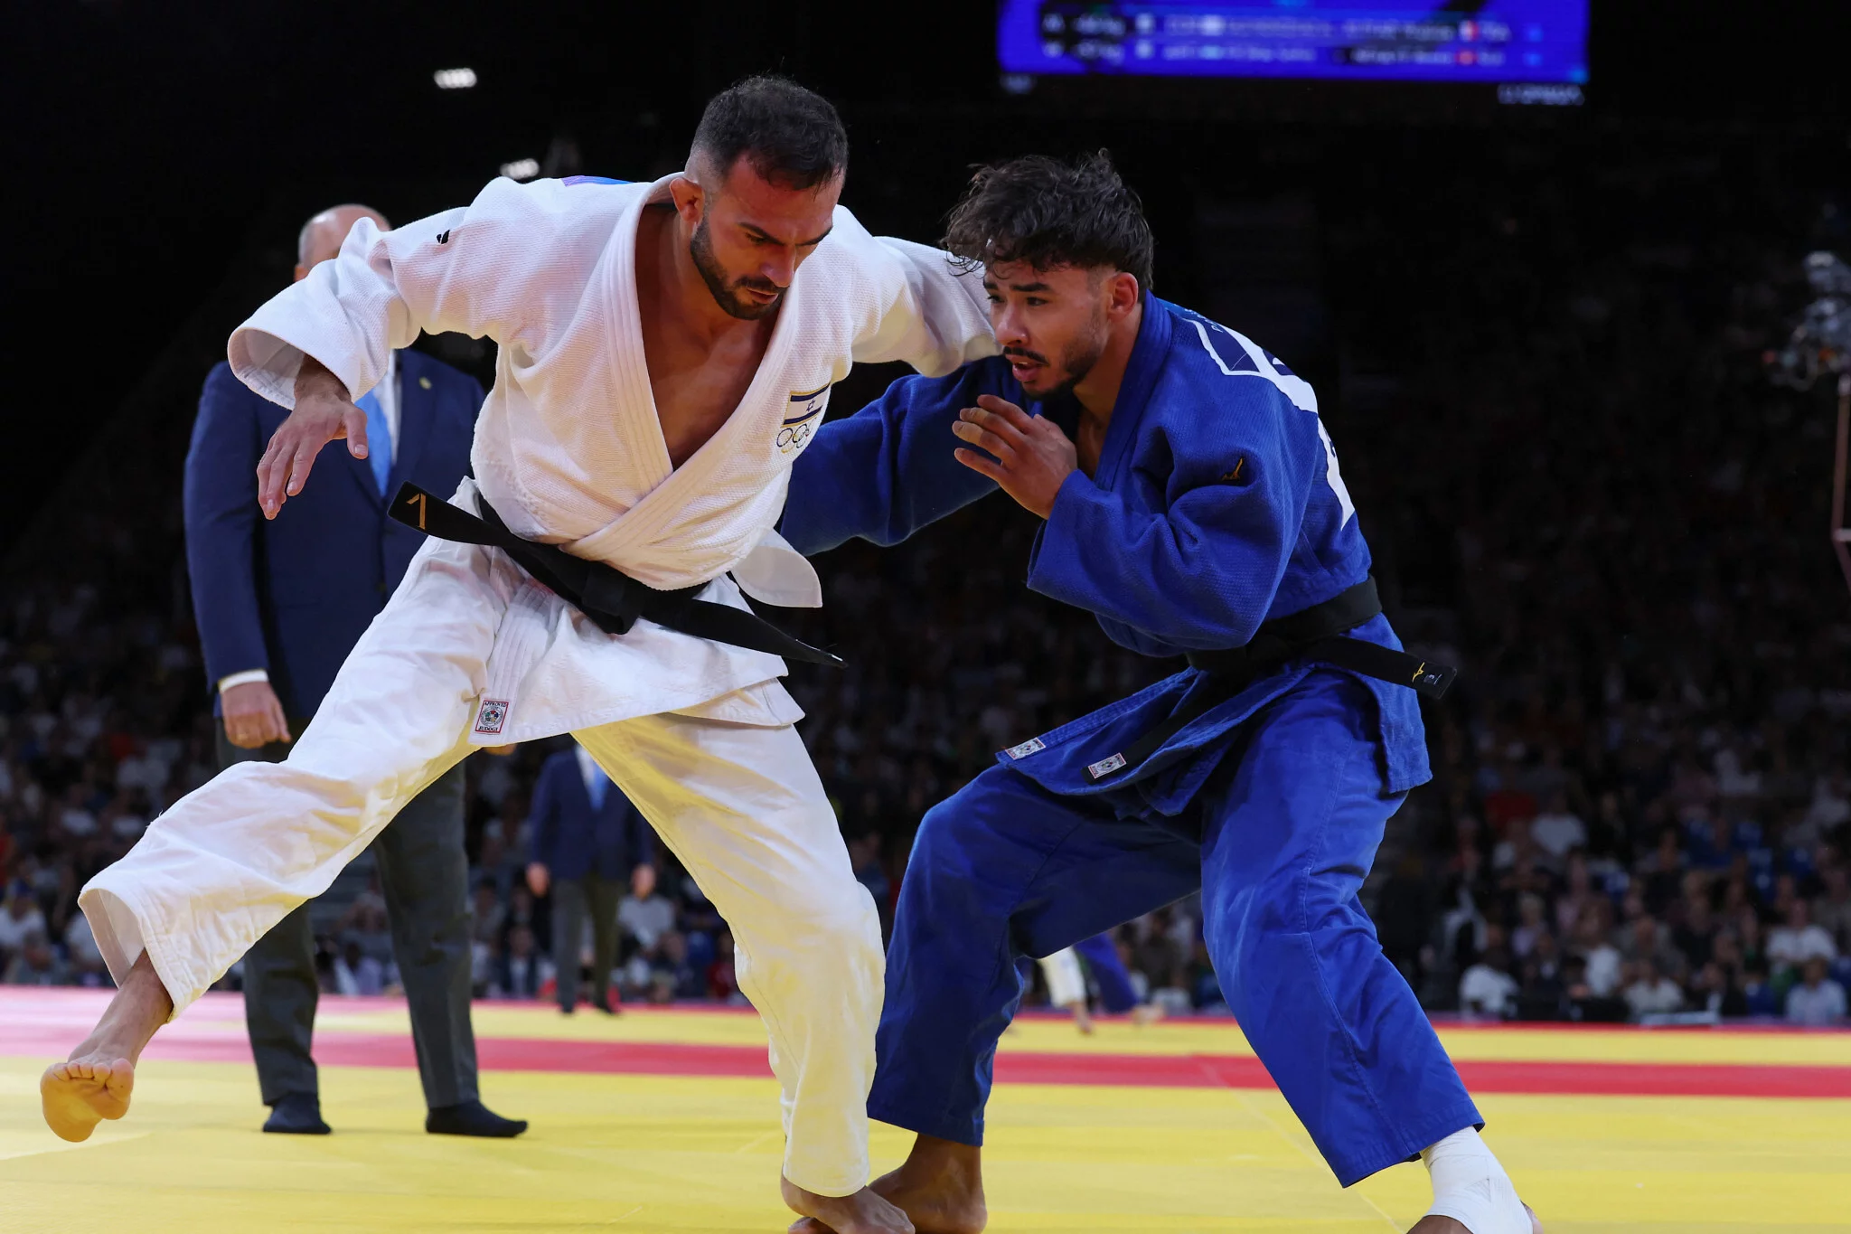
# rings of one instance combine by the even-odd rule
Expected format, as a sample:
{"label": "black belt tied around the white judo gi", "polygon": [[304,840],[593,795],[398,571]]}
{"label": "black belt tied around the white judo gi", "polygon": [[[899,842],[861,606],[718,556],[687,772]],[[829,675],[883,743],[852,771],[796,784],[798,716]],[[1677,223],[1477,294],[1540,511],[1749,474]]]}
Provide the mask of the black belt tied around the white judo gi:
{"label": "black belt tied around the white judo gi", "polygon": [[[481,500],[478,496],[478,500]],[[542,586],[576,607],[607,635],[627,635],[637,618],[696,638],[770,651],[805,664],[842,664],[842,659],[792,638],[755,612],[694,599],[705,586],[659,592],[602,561],[574,557],[557,544],[522,540],[494,509],[481,501],[481,518],[433,498],[416,485],[400,485],[392,496],[392,518],[424,535],[457,544],[483,544],[513,557]]]}

